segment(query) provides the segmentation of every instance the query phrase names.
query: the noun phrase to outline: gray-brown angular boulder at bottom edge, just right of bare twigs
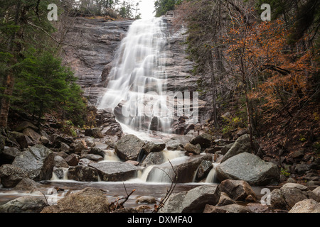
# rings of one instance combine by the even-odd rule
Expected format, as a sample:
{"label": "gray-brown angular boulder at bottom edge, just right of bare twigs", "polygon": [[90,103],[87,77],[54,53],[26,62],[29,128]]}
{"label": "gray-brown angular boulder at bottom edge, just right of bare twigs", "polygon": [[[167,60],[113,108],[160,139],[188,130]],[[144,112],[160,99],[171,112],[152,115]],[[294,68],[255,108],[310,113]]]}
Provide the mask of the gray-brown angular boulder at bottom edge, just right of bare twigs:
{"label": "gray-brown angular boulder at bottom edge, just right of bare twigs", "polygon": [[220,190],[218,185],[203,185],[188,192],[171,194],[160,213],[196,213],[203,212],[206,204],[218,204]]}

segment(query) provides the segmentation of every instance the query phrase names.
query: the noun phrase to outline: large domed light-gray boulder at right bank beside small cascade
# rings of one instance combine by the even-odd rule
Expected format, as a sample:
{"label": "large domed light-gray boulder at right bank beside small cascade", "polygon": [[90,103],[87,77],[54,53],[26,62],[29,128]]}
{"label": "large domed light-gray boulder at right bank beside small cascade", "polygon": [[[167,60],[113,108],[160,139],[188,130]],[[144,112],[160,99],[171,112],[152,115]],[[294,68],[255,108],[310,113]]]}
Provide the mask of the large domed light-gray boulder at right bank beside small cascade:
{"label": "large domed light-gray boulder at right bank beside small cascade", "polygon": [[217,178],[242,179],[250,185],[267,185],[279,181],[279,170],[272,162],[265,162],[250,153],[230,157],[216,168]]}

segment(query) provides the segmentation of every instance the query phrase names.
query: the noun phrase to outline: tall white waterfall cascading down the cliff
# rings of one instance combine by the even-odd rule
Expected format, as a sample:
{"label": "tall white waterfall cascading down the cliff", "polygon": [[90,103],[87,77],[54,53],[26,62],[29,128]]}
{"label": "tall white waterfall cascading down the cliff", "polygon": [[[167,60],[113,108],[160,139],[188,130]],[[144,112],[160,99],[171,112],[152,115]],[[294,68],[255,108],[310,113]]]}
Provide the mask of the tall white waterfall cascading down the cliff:
{"label": "tall white waterfall cascading down the cliff", "polygon": [[117,52],[107,91],[97,107],[113,109],[117,121],[127,126],[124,132],[156,128],[170,133],[172,119],[164,115],[168,112],[164,29],[161,18],[134,21]]}

